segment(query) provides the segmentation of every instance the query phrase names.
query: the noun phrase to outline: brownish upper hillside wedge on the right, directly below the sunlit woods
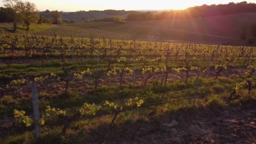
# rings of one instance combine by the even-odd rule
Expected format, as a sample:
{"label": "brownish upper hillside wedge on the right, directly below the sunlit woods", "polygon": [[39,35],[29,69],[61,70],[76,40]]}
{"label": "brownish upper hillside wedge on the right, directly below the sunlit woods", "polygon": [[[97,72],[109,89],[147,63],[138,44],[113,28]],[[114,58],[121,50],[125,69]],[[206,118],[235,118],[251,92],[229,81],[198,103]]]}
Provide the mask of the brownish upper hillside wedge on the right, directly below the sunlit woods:
{"label": "brownish upper hillside wedge on the right, directly below the sunlit woods", "polygon": [[136,24],[240,38],[243,28],[249,35],[250,24],[255,22],[256,13],[238,13],[185,20],[141,21]]}

